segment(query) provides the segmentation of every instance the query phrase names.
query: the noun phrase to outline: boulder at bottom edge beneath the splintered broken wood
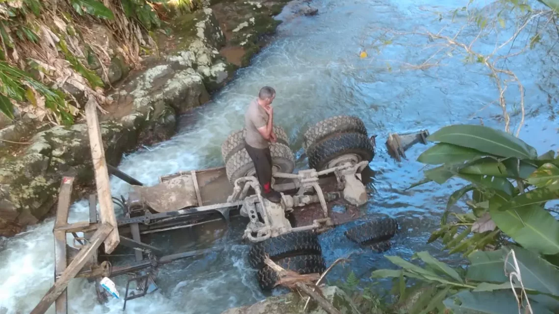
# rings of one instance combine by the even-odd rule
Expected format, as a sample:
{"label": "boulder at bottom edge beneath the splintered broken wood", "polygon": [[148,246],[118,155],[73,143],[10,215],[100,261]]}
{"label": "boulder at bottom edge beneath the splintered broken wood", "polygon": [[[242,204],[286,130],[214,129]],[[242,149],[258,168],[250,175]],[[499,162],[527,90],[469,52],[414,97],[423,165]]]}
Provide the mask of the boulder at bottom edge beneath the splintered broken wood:
{"label": "boulder at bottom edge beneath the splintered broken wood", "polygon": [[[342,289],[335,286],[321,288],[321,292],[331,305],[342,314],[360,314],[352,304],[350,298]],[[221,314],[300,314],[303,312],[306,298],[301,298],[299,294],[287,293],[282,296],[268,297],[262,302],[254,303],[250,306],[230,308]],[[311,302],[315,303],[315,302]],[[310,314],[326,314],[321,308],[310,306]]]}

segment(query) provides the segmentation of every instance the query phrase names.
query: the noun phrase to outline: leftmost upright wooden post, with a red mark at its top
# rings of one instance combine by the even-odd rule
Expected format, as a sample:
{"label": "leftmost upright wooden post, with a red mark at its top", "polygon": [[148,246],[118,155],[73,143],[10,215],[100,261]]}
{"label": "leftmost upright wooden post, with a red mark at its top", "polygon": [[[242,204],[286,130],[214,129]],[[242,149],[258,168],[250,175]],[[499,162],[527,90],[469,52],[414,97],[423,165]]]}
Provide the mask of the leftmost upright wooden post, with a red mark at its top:
{"label": "leftmost upright wooden post, with a red mark at its top", "polygon": [[[57,230],[68,224],[68,211],[70,209],[70,199],[72,197],[73,177],[63,177],[58,193],[58,206],[56,207],[56,220],[54,222],[54,274],[63,272],[67,266],[66,253],[66,232]],[[64,291],[56,298],[56,314],[68,313],[68,291]]]}

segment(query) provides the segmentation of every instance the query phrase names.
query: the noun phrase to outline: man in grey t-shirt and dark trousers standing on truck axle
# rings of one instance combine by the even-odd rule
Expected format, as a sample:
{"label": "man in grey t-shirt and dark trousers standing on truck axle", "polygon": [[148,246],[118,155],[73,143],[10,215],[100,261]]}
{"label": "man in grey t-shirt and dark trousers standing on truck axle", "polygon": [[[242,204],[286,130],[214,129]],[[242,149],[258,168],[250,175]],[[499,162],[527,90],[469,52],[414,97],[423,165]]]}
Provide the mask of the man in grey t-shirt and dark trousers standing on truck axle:
{"label": "man in grey t-shirt and dark trousers standing on truck axle", "polygon": [[260,88],[258,97],[249,103],[245,112],[245,149],[254,163],[262,196],[271,202],[280,203],[280,192],[272,189],[272,155],[269,146],[270,142],[277,140],[272,129],[274,108],[271,104],[274,98],[276,91],[264,86]]}

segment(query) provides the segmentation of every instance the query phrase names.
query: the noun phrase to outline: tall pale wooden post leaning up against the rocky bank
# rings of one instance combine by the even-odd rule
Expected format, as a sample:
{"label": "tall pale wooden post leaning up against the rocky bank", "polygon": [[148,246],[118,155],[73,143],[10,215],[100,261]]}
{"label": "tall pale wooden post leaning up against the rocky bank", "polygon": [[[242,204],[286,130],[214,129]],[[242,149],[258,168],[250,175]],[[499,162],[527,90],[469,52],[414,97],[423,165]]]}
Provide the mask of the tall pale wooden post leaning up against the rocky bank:
{"label": "tall pale wooden post leaning up against the rocky bank", "polygon": [[101,223],[113,226],[111,233],[105,240],[105,253],[111,254],[119,245],[119,229],[116,224],[115,209],[111,198],[111,185],[108,180],[107,161],[105,160],[105,148],[101,138],[101,126],[97,118],[97,102],[89,97],[86,104],[87,129],[89,133],[89,145],[91,146],[91,158],[95,170],[95,183],[97,185],[97,197],[101,211],[99,213]]}

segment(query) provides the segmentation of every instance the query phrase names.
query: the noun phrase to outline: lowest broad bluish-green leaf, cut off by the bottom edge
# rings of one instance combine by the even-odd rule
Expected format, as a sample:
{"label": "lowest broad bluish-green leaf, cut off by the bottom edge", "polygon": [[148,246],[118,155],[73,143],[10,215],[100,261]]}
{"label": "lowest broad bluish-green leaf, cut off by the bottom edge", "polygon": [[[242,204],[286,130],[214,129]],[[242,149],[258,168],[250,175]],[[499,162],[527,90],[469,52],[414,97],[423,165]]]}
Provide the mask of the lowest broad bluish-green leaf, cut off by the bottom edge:
{"label": "lowest broad bluish-green leaf, cut off by the bottom edge", "polygon": [[[460,301],[460,305],[454,302]],[[514,314],[518,313],[518,303],[512,291],[499,290],[492,292],[461,291],[444,300],[444,305],[454,314]],[[543,306],[532,306],[533,313],[552,314]]]}

